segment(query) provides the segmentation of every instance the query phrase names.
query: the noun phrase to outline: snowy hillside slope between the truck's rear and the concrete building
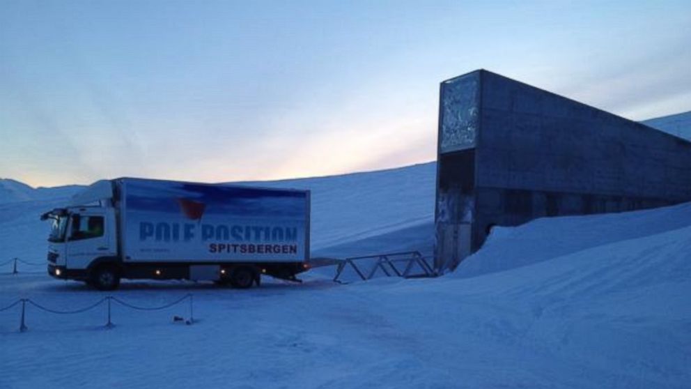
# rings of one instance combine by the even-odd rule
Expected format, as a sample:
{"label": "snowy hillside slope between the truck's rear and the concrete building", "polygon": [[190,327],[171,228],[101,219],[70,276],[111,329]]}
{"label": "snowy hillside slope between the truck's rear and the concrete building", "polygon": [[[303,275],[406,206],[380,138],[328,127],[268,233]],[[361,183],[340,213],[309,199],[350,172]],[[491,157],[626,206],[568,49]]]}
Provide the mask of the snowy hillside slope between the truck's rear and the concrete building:
{"label": "snowy hillside slope between the truck's rear and the concrete building", "polygon": [[[343,176],[251,184],[311,190],[312,250],[317,255],[371,254],[364,248],[368,242],[378,245],[379,250],[382,246],[405,249],[410,241],[390,234],[402,230],[424,231],[428,238],[414,248],[430,250],[436,169],[435,162],[428,162]],[[378,241],[380,238],[386,241]]]}

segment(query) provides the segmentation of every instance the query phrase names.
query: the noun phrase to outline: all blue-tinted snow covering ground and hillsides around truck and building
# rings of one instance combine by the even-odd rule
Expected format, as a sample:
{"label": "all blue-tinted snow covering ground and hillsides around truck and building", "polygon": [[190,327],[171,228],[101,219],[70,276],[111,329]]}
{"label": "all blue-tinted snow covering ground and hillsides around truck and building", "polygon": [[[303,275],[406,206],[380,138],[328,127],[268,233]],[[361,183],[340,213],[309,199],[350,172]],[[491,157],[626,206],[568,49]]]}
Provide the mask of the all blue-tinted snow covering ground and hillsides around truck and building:
{"label": "all blue-tinted snow covering ground and hillsides around truck and building", "polygon": [[[310,188],[314,254],[432,242],[435,164],[263,183]],[[75,188],[0,181],[0,263],[43,264],[38,214]],[[0,192],[0,197],[2,192]],[[40,266],[0,266],[0,308],[31,298],[75,315],[0,312],[0,388],[690,388],[691,204],[496,228],[455,273],[259,289],[124,282],[104,293]],[[324,271],[321,269],[320,271]]]}

